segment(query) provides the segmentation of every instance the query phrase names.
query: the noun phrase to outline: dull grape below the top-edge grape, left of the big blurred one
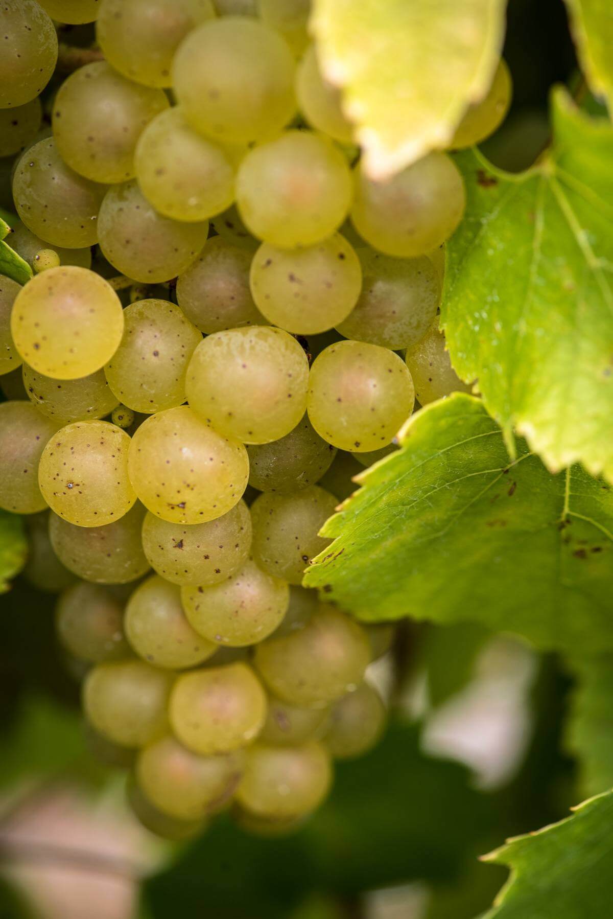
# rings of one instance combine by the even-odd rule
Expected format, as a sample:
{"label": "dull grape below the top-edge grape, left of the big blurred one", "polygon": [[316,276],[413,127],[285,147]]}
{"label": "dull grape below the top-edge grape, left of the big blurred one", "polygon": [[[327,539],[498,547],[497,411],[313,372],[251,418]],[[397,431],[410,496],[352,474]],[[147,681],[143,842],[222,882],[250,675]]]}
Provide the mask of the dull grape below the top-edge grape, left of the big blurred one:
{"label": "dull grape below the top-edge grape, left of the big blurred one", "polygon": [[62,159],[81,176],[124,182],[135,175],[142,130],[165,108],[164,90],[132,83],[106,61],[87,63],[55,96],[53,136]]}

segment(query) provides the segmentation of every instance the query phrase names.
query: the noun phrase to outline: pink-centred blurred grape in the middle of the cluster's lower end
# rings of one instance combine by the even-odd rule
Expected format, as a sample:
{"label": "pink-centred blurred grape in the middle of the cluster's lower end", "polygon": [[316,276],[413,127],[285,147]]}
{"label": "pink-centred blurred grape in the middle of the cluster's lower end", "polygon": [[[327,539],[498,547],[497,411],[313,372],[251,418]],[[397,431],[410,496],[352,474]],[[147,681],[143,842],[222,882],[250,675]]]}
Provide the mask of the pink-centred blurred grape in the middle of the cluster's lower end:
{"label": "pink-centred blurred grape in the middle of the cluster's lower end", "polygon": [[230,753],[253,741],[267,700],[247,664],[210,667],[177,678],[169,718],[178,740],[203,756]]}

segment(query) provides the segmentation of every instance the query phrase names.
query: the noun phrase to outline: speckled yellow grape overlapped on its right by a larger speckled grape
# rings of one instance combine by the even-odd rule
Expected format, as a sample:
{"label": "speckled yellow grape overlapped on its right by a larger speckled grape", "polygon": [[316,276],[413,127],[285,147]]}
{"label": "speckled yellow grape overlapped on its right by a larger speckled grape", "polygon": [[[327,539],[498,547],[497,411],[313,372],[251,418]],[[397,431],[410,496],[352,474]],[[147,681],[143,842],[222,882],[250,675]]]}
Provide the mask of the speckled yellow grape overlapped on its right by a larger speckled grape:
{"label": "speckled yellow grape overlapped on its right by a larger speckled grape", "polygon": [[129,447],[130,437],[108,421],[62,427],[40,457],[40,491],[51,510],[79,527],[119,520],[136,501]]}

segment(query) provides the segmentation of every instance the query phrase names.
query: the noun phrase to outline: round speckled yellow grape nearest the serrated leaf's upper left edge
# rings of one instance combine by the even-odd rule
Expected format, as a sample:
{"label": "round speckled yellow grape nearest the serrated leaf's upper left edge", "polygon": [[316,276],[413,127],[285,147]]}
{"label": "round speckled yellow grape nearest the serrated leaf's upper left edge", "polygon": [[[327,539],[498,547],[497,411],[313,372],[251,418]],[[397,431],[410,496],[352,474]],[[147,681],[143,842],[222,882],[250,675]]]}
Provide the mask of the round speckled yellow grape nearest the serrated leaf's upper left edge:
{"label": "round speckled yellow grape nearest the serrated leaf's upper left edge", "polygon": [[335,447],[358,453],[384,447],[413,406],[411,374],[387,348],[340,342],[312,365],[309,418]]}

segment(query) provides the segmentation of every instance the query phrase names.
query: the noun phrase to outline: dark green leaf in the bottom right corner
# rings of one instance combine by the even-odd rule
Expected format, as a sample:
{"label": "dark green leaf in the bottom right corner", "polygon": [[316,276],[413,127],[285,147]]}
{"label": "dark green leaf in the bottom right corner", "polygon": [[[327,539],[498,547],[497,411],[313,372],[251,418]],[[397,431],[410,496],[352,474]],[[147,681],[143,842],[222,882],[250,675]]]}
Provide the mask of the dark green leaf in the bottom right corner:
{"label": "dark green leaf in the bottom right corner", "polygon": [[605,919],[611,914],[613,792],[485,858],[508,865],[512,874],[482,919]]}

